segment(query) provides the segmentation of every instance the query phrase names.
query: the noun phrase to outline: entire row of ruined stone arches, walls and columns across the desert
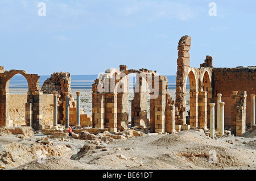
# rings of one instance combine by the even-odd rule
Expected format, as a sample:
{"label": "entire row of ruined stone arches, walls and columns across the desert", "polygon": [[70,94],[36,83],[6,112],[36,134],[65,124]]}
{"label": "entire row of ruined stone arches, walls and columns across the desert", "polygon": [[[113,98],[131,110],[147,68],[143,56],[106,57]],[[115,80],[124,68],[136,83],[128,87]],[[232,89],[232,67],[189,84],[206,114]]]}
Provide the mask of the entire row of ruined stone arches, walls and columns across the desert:
{"label": "entire row of ruined stone arches, walls and columns across the desert", "polygon": [[[40,90],[38,74],[24,70],[5,71],[0,67],[0,127],[11,127],[9,115],[9,82],[15,74],[22,74],[28,82],[26,126],[42,130],[43,98],[52,95],[49,112],[53,125],[69,124],[123,131],[129,127],[129,74],[135,73],[134,99],[131,102],[131,126],[147,128],[150,132],[175,133],[181,129],[217,127],[222,134],[225,126],[232,134],[241,136],[246,126],[255,124],[256,67],[214,68],[213,58],[206,56],[200,68],[190,66],[191,37],[183,36],[177,47],[175,100],[168,93],[168,80],[156,71],[107,69],[92,85],[92,116],[80,109],[71,95],[71,75],[53,73]],[[189,110],[186,110],[186,89],[189,78]],[[249,95],[249,96],[247,96]],[[148,97],[149,96],[149,97]],[[52,99],[53,98],[53,99]],[[147,117],[147,100],[150,117]],[[224,109],[225,105],[225,109]],[[80,112],[81,111],[81,112]],[[187,111],[189,115],[187,116]],[[224,121],[225,120],[225,121]],[[52,123],[51,123],[52,124]],[[212,127],[212,126],[211,126]]]}

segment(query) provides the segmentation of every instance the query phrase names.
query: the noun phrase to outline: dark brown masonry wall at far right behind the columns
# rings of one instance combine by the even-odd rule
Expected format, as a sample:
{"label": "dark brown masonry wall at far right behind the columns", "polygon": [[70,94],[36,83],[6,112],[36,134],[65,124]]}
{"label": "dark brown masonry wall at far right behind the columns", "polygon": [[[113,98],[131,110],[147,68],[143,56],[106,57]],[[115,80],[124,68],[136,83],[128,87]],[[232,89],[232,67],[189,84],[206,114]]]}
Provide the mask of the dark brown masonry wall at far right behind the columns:
{"label": "dark brown masonry wall at far right behind the columns", "polygon": [[[247,68],[213,68],[213,103],[217,105],[217,94],[222,94],[225,102],[225,125],[231,125],[232,91],[247,91],[246,124],[250,123],[250,94],[256,94],[256,67]],[[215,107],[217,113],[217,106]],[[217,117],[217,116],[216,116]]]}

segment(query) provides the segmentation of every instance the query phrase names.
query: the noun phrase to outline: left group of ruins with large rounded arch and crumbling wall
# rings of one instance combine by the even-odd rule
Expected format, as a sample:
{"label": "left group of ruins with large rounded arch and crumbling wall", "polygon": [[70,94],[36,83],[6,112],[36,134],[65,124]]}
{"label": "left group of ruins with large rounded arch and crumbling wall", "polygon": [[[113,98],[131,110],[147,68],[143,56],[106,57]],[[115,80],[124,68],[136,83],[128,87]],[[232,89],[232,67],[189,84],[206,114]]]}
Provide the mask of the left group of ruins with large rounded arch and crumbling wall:
{"label": "left group of ruins with large rounded arch and crumbling wall", "polygon": [[[20,97],[9,94],[9,82],[10,79],[16,75],[23,75],[28,83],[27,101],[23,102]],[[71,95],[71,74],[67,72],[55,72],[44,81],[42,89],[39,87],[38,74],[28,74],[24,70],[10,70],[5,71],[3,66],[0,67],[0,127],[18,127],[27,126],[32,127],[36,131],[42,131],[46,125],[53,125],[53,92],[57,95],[57,120],[58,124],[65,124],[65,100],[66,94],[69,95],[69,107],[71,114],[71,124],[76,124],[76,102]],[[24,110],[24,123],[16,124],[14,120],[10,119],[9,105],[10,96],[13,96],[15,102],[22,102],[26,108]],[[46,102],[46,103],[44,103]],[[47,104],[47,105],[46,105]],[[47,106],[46,109],[44,109]],[[20,110],[22,112],[23,110]],[[81,125],[91,126],[92,116],[85,115],[82,110],[81,113]],[[45,121],[45,117],[48,116],[49,121]]]}

